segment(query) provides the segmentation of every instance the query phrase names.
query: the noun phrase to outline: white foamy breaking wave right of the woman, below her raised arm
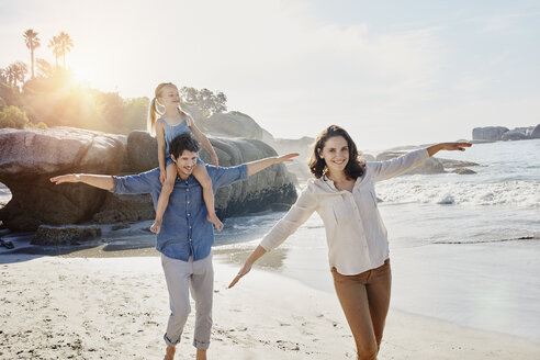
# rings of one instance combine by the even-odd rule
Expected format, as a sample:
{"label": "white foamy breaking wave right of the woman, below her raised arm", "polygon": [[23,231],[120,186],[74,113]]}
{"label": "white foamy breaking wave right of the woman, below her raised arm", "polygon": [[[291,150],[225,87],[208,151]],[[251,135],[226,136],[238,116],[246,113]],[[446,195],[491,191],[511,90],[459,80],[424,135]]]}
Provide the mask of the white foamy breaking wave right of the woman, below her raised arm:
{"label": "white foamy breaking wave right of the woman, below her raised arm", "polygon": [[531,181],[443,183],[400,179],[378,184],[376,193],[383,203],[540,207],[540,182]]}

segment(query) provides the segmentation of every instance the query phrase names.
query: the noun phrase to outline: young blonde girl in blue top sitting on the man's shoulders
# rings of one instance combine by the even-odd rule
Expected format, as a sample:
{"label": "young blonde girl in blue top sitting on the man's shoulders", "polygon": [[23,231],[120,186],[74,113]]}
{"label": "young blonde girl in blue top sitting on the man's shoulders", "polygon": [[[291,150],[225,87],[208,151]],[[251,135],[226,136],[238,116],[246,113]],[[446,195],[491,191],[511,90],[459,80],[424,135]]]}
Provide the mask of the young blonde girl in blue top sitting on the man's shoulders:
{"label": "young blonde girl in blue top sitting on the man's shoulders", "polygon": [[[157,104],[165,108],[165,112],[159,112]],[[159,115],[159,117],[157,116]],[[155,97],[150,102],[150,113],[148,117],[148,131],[150,134],[157,135],[158,142],[158,159],[159,159],[159,180],[162,183],[161,193],[159,194],[156,209],[156,220],[150,226],[153,233],[158,234],[164,220],[164,213],[169,203],[169,195],[175,187],[177,179],[177,167],[169,154],[169,143],[178,135],[187,132],[192,132],[199,142],[212,156],[215,167],[217,168],[217,155],[210,144],[209,138],[201,133],[195,126],[190,114],[182,111],[180,108],[180,94],[178,88],[171,82],[162,82],[158,85],[155,91]],[[215,214],[214,210],[214,192],[212,190],[212,180],[209,177],[206,168],[198,158],[196,166],[193,170],[193,176],[201,183],[203,189],[204,203],[209,212],[207,220],[213,223],[218,232],[223,229],[223,224]]]}

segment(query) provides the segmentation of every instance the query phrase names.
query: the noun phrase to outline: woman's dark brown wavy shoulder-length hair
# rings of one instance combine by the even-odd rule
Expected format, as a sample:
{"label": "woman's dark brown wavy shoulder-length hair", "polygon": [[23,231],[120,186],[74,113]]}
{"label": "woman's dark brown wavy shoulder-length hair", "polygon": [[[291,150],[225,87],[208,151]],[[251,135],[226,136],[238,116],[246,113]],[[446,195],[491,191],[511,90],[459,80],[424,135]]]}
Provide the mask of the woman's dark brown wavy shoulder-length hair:
{"label": "woman's dark brown wavy shoulder-length hair", "polygon": [[308,162],[310,170],[317,179],[327,171],[326,161],[320,158],[319,153],[325,147],[326,140],[334,136],[342,136],[347,140],[347,146],[349,147],[349,162],[347,162],[345,167],[345,175],[347,178],[356,180],[363,175],[365,165],[359,159],[357,145],[350,135],[345,131],[345,128],[338,125],[330,125],[318,134]]}

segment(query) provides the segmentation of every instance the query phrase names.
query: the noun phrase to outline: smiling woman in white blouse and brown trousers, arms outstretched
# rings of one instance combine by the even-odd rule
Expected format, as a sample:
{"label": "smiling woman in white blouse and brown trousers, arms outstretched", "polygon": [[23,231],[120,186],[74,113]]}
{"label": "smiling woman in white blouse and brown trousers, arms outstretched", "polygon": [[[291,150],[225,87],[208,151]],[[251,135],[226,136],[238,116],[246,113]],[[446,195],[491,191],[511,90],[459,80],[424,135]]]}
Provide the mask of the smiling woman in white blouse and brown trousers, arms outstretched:
{"label": "smiling woman in white blouse and brown trousers, arms outstretched", "polygon": [[410,170],[439,150],[463,151],[470,146],[443,143],[387,161],[363,162],[349,134],[339,126],[329,126],[318,135],[310,160],[315,180],[308,181],[296,203],[263,237],[229,288],[316,211],[325,225],[334,285],[355,337],[358,359],[376,359],[392,274],[374,183]]}

